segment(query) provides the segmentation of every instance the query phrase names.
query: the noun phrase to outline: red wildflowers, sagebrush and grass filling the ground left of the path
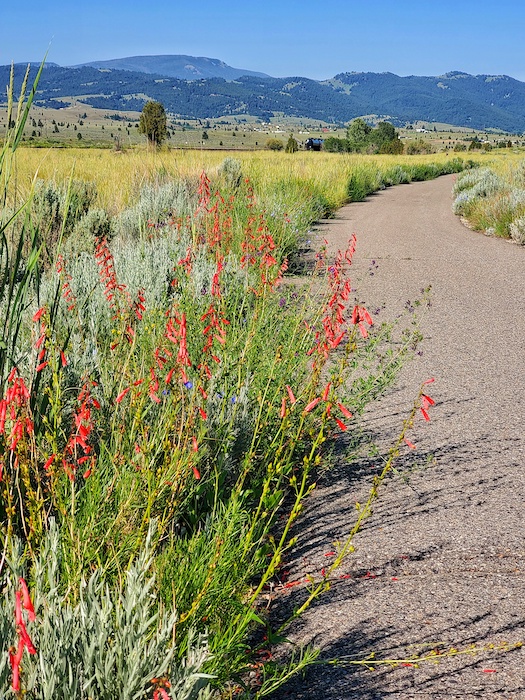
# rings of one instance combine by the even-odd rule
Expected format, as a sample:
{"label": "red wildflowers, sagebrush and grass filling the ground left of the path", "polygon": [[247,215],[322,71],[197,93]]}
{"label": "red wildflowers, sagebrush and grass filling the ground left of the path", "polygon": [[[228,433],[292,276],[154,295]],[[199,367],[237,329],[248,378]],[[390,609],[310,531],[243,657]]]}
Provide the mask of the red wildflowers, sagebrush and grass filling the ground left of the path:
{"label": "red wildflowers, sagebrush and grass filling the ground left of the path", "polygon": [[[17,112],[12,98],[0,152],[0,693],[268,696],[315,656],[263,663],[280,639],[264,594],[283,585],[292,526],[336,441],[351,468],[357,438],[344,448],[341,436],[358,435],[419,340],[412,309],[382,324],[359,299],[355,238],[332,260],[305,258],[310,227],[345,201],[467,164],[42,158],[19,149],[30,101]],[[386,470],[430,405],[420,393],[408,407]],[[302,609],[327,586],[319,572]]]}

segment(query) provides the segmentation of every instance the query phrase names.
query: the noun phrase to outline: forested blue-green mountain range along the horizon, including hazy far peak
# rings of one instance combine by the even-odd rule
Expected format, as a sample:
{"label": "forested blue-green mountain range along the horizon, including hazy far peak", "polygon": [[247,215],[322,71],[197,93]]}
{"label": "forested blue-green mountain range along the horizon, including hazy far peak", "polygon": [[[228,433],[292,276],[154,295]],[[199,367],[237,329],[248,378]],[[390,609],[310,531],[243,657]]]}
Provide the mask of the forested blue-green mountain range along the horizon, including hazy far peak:
{"label": "forested blue-green mountain range along the horizon, including hazy far peak", "polygon": [[[0,66],[0,84],[10,66]],[[32,69],[36,73],[36,68]],[[15,66],[21,84],[24,67]],[[2,81],[4,81],[2,83]],[[435,77],[339,73],[329,80],[273,78],[218,59],[136,56],[88,65],[46,66],[36,103],[66,107],[74,98],[93,107],[140,111],[157,100],[177,118],[251,115],[302,117],[343,124],[375,115],[396,126],[426,121],[473,129],[525,131],[525,83],[505,75],[454,71]]]}

